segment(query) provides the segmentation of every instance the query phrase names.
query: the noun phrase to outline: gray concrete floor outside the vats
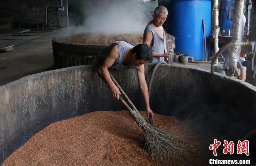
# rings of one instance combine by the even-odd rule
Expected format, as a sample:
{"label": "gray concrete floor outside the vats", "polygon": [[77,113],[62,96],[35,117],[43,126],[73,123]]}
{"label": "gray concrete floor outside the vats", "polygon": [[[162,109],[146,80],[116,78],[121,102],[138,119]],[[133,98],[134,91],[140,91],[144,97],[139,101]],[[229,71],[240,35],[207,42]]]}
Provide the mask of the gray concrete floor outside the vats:
{"label": "gray concrete floor outside the vats", "polygon": [[[6,30],[0,33],[0,42],[8,41],[14,45],[13,51],[0,53],[0,86],[31,74],[53,70],[52,39],[68,32],[62,30],[29,33],[26,36],[18,34],[18,31],[21,30]],[[174,64],[210,71],[210,63]]]}

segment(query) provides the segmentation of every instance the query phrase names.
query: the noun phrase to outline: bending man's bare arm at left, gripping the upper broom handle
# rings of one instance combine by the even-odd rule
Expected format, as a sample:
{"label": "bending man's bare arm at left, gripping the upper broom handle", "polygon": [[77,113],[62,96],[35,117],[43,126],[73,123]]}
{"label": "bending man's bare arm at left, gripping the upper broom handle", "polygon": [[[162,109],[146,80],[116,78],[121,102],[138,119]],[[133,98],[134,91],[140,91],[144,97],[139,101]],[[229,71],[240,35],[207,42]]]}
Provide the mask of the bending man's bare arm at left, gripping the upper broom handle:
{"label": "bending man's bare arm at left, gripping the upper broom handle", "polygon": [[118,57],[118,45],[114,46],[112,50],[110,51],[109,55],[106,57],[106,59],[103,61],[101,65],[101,72],[103,78],[108,82],[109,88],[112,92],[112,95],[114,99],[119,99],[120,91],[117,88],[117,86],[112,81],[108,68],[113,65],[113,63],[116,61],[116,58]]}

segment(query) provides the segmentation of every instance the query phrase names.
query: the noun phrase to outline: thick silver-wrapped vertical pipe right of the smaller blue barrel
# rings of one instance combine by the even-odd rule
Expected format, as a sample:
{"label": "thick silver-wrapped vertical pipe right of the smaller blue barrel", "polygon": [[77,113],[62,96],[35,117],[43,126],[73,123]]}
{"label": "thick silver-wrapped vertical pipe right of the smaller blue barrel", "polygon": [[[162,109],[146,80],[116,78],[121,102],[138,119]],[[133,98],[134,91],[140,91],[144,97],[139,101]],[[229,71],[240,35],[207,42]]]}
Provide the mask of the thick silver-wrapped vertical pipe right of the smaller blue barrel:
{"label": "thick silver-wrapped vertical pipe right of the smaller blue barrel", "polygon": [[[244,9],[244,0],[236,0],[234,4],[234,16],[232,25],[232,42],[240,42],[239,35],[241,31],[241,19]],[[230,72],[233,74],[234,69],[237,68],[237,54],[240,46],[231,47],[229,53],[229,67]]]}

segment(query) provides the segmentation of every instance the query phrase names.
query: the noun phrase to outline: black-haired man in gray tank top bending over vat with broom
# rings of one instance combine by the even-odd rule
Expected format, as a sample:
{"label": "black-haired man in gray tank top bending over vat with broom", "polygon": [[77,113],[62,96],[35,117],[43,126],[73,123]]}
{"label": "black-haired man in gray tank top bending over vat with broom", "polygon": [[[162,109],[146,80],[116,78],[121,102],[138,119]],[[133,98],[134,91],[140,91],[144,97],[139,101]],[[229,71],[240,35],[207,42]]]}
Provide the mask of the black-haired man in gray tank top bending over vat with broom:
{"label": "black-haired man in gray tank top bending over vat with broom", "polygon": [[149,105],[148,88],[144,74],[144,63],[152,61],[152,49],[148,45],[139,44],[132,46],[124,41],[117,41],[104,47],[96,57],[95,64],[101,65],[103,78],[108,82],[114,99],[119,99],[120,91],[110,78],[108,69],[136,69],[140,90],[146,104],[147,117],[154,118],[154,113]]}

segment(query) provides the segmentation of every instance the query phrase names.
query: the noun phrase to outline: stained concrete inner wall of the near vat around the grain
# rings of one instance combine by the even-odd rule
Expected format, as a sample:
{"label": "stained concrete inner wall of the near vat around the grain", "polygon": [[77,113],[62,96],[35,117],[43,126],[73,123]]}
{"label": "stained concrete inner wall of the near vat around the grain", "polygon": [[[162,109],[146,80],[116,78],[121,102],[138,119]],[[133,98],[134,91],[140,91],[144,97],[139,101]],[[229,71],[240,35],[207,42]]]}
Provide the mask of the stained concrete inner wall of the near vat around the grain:
{"label": "stained concrete inner wall of the near vat around the grain", "polygon": [[[152,67],[146,65],[147,81]],[[136,70],[111,73],[136,107],[145,110]],[[206,136],[206,143],[213,143],[215,138],[235,142],[255,129],[254,86],[221,74],[174,65],[162,65],[156,74],[150,96],[153,111],[180,120],[191,115],[193,128]],[[0,94],[0,163],[55,121],[93,111],[125,109],[113,100],[91,65],[23,77],[0,86]],[[250,100],[238,102],[245,94]]]}

